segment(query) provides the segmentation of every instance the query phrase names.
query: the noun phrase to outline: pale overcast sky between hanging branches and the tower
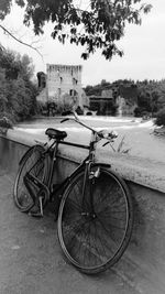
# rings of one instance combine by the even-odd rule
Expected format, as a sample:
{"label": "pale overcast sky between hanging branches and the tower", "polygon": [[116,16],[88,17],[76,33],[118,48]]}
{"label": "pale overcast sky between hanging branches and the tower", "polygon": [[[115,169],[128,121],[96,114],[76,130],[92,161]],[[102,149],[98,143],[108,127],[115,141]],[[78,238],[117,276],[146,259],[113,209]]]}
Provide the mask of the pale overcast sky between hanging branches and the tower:
{"label": "pale overcast sky between hanging branches and the tower", "polygon": [[3,33],[0,29],[0,43],[20,54],[28,54],[33,59],[35,74],[46,73],[46,64],[82,65],[82,86],[97,85],[102,79],[163,79],[165,78],[165,0],[146,0],[153,6],[148,14],[142,17],[141,25],[128,24],[119,46],[123,57],[114,56],[106,61],[99,53],[89,59],[80,58],[82,47],[61,44],[51,37],[52,24],[45,26],[45,34],[36,37],[32,30],[22,24],[23,11],[13,6],[12,12],[1,24],[11,30],[22,41],[37,46],[43,58],[32,48],[24,46]]}

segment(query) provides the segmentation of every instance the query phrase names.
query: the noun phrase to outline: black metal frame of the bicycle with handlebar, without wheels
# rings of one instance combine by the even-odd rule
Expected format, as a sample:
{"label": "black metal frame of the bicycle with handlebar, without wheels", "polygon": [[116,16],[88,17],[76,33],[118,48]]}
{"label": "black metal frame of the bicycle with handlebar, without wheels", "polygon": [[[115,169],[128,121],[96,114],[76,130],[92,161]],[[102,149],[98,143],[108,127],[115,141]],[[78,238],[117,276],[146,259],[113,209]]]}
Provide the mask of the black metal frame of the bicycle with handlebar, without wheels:
{"label": "black metal frame of the bicycle with handlebar, without wheels", "polygon": [[[68,120],[68,119],[64,119],[63,121],[65,121],[65,120]],[[84,184],[82,184],[82,197],[85,196],[87,177],[91,182],[91,181],[94,181],[94,177],[98,176],[96,174],[97,173],[99,174],[99,167],[98,167],[98,171],[96,171],[94,173],[94,172],[91,172],[91,166],[95,164],[96,148],[97,148],[98,141],[101,140],[101,137],[99,137],[98,132],[95,131],[92,128],[90,128],[90,127],[86,126],[85,123],[82,123],[81,121],[79,121],[79,119],[76,116],[75,116],[75,119],[70,119],[70,120],[75,120],[76,122],[78,122],[79,124],[81,124],[82,127],[85,127],[91,131],[91,139],[90,139],[89,145],[81,145],[81,144],[66,142],[66,141],[62,141],[62,140],[54,140],[54,142],[43,153],[43,156],[45,156],[45,154],[48,154],[48,156],[51,156],[51,160],[52,160],[50,163],[51,165],[50,165],[50,170],[48,170],[48,182],[46,184],[41,183],[40,179],[37,179],[34,175],[31,174],[31,171],[42,160],[41,157],[35,162],[35,164],[31,167],[31,170],[25,175],[25,177],[28,177],[26,181],[24,181],[26,188],[31,192],[30,185],[28,183],[28,181],[30,181],[33,185],[37,186],[37,188],[40,188],[40,190],[45,192],[46,198],[50,202],[53,200],[53,198],[55,197],[55,195],[58,190],[62,189],[61,194],[63,194],[63,192],[65,190],[68,183],[78,173],[78,171],[81,170],[82,167],[85,168],[85,176],[84,176]],[[66,144],[66,145],[72,145],[72,146],[76,146],[76,148],[87,149],[87,150],[89,150],[89,154],[74,170],[74,172],[69,176],[67,176],[62,183],[54,185],[53,184],[53,175],[54,175],[55,164],[57,161],[57,152],[58,152],[58,145],[59,144]],[[97,164],[97,165],[99,165],[99,164]],[[102,165],[102,164],[100,164],[100,165]],[[110,167],[109,164],[103,164],[103,165],[107,167]],[[91,186],[92,185],[90,185],[90,195],[92,195],[92,187]],[[33,195],[33,198],[34,198],[34,195]],[[90,198],[92,198],[92,196]],[[92,199],[90,199],[90,200],[92,203]]]}

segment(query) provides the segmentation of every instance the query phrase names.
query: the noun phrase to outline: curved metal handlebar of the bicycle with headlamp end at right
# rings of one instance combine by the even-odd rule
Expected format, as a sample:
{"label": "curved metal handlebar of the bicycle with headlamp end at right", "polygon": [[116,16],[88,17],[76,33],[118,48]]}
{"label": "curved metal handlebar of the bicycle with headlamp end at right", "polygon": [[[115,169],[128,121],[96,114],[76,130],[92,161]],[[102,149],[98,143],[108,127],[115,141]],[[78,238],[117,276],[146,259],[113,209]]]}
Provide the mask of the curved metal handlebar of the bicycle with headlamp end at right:
{"label": "curved metal handlebar of the bicycle with headlamp end at right", "polygon": [[100,139],[106,139],[108,141],[111,141],[113,139],[116,139],[118,137],[118,133],[116,131],[111,131],[111,132],[107,132],[106,130],[101,130],[101,131],[96,131],[95,129],[88,127],[87,124],[85,124],[84,122],[81,122],[79,120],[79,118],[77,117],[76,112],[75,111],[65,111],[63,113],[63,116],[69,116],[69,115],[74,115],[74,118],[65,118],[61,121],[61,123],[67,121],[67,120],[74,120],[75,122],[79,123],[80,126],[85,127],[86,129],[90,130],[92,133],[97,133],[97,135],[100,138]]}

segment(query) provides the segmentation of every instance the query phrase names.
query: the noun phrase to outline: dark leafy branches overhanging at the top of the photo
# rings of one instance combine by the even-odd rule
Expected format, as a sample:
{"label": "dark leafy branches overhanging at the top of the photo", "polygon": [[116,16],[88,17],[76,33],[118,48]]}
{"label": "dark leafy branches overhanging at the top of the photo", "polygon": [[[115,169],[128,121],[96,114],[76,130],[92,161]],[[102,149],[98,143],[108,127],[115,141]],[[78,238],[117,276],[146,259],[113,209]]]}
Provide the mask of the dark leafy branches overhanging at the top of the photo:
{"label": "dark leafy branches overhanging at the top of the photo", "polygon": [[[82,1],[78,1],[82,3]],[[89,0],[87,8],[77,6],[76,0],[15,0],[24,7],[24,23],[33,23],[34,33],[43,33],[46,22],[54,23],[52,36],[65,43],[85,45],[82,58],[101,50],[107,59],[123,52],[117,42],[123,36],[127,23],[141,24],[142,13],[151,10],[142,0]],[[10,13],[12,0],[0,2],[0,19]]]}

